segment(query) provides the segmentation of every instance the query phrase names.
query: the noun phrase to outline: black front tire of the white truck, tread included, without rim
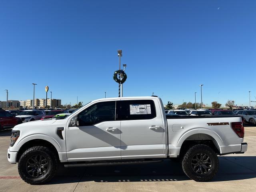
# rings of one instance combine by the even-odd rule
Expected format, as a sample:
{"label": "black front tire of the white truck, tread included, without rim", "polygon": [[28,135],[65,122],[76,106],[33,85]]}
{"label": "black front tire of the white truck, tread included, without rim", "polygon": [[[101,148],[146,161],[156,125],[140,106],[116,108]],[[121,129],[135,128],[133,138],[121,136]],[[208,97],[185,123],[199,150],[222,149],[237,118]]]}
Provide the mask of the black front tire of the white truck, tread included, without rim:
{"label": "black front tire of the white truck, tread included, without rim", "polygon": [[[26,164],[28,160],[35,155],[42,155],[48,161],[48,170],[43,176],[39,178],[34,178],[30,176],[26,171]],[[20,157],[20,160],[18,163],[18,172],[22,180],[24,180],[28,184],[32,184],[32,185],[44,184],[50,181],[56,174],[58,170],[58,162],[59,160],[56,154],[52,152],[52,150],[44,146],[34,146],[27,149]]]}

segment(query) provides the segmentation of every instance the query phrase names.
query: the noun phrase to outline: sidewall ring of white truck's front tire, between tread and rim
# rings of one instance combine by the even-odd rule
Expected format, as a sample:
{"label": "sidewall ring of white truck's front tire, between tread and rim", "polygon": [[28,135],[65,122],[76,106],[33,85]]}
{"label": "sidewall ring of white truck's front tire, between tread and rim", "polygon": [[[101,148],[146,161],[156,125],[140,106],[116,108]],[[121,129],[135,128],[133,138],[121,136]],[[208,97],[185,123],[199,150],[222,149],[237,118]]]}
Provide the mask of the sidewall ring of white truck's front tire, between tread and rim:
{"label": "sidewall ring of white truck's front tire, between tread and rim", "polygon": [[[30,176],[26,171],[26,163],[27,163],[28,159],[35,155],[42,155],[48,160],[48,170],[47,170],[46,174],[40,178],[34,178],[34,177]],[[52,173],[52,169],[54,167],[54,162],[53,162],[52,156],[50,154],[48,154],[47,152],[42,151],[42,150],[32,150],[20,158],[18,166],[21,170],[22,175],[27,180],[30,180],[35,183],[37,183],[37,182],[41,183],[41,182],[44,182],[44,180],[47,180],[47,178]]]}

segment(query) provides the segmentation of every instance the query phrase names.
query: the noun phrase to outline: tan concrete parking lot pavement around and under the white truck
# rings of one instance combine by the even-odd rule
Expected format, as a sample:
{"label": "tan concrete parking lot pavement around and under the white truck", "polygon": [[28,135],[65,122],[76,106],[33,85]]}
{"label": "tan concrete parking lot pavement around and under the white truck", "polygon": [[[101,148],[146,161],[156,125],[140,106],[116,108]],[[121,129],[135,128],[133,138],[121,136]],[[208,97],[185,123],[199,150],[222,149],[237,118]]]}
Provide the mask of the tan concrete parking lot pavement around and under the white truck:
{"label": "tan concrete parking lot pavement around and under the white truck", "polygon": [[220,169],[211,182],[195,182],[186,177],[178,162],[99,166],[60,167],[54,179],[45,185],[32,186],[20,179],[17,164],[6,159],[10,130],[0,131],[0,192],[169,192],[169,191],[256,191],[256,127],[245,127],[244,154],[219,157]]}

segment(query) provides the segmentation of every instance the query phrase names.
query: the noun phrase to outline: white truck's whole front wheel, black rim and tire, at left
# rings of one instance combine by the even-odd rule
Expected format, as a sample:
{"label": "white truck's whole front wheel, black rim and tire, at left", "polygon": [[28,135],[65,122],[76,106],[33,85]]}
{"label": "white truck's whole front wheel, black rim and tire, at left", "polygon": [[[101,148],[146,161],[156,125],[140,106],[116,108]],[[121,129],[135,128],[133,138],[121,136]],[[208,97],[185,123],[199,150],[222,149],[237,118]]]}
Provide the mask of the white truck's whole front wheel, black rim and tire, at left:
{"label": "white truck's whole front wheel, black rim and tire, at left", "polygon": [[28,184],[44,184],[50,181],[58,170],[58,159],[54,152],[44,146],[27,149],[20,157],[18,172]]}

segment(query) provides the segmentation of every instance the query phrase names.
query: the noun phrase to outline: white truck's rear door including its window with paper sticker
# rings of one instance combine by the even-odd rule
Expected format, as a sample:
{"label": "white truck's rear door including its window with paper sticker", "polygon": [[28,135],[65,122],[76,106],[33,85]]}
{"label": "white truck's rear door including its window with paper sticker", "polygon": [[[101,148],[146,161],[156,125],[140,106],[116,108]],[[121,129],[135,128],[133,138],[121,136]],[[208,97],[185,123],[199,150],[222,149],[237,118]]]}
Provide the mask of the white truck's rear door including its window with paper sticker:
{"label": "white truck's rear door including its window with paper sticker", "polygon": [[158,100],[121,99],[117,110],[122,159],[163,158],[165,130]]}

